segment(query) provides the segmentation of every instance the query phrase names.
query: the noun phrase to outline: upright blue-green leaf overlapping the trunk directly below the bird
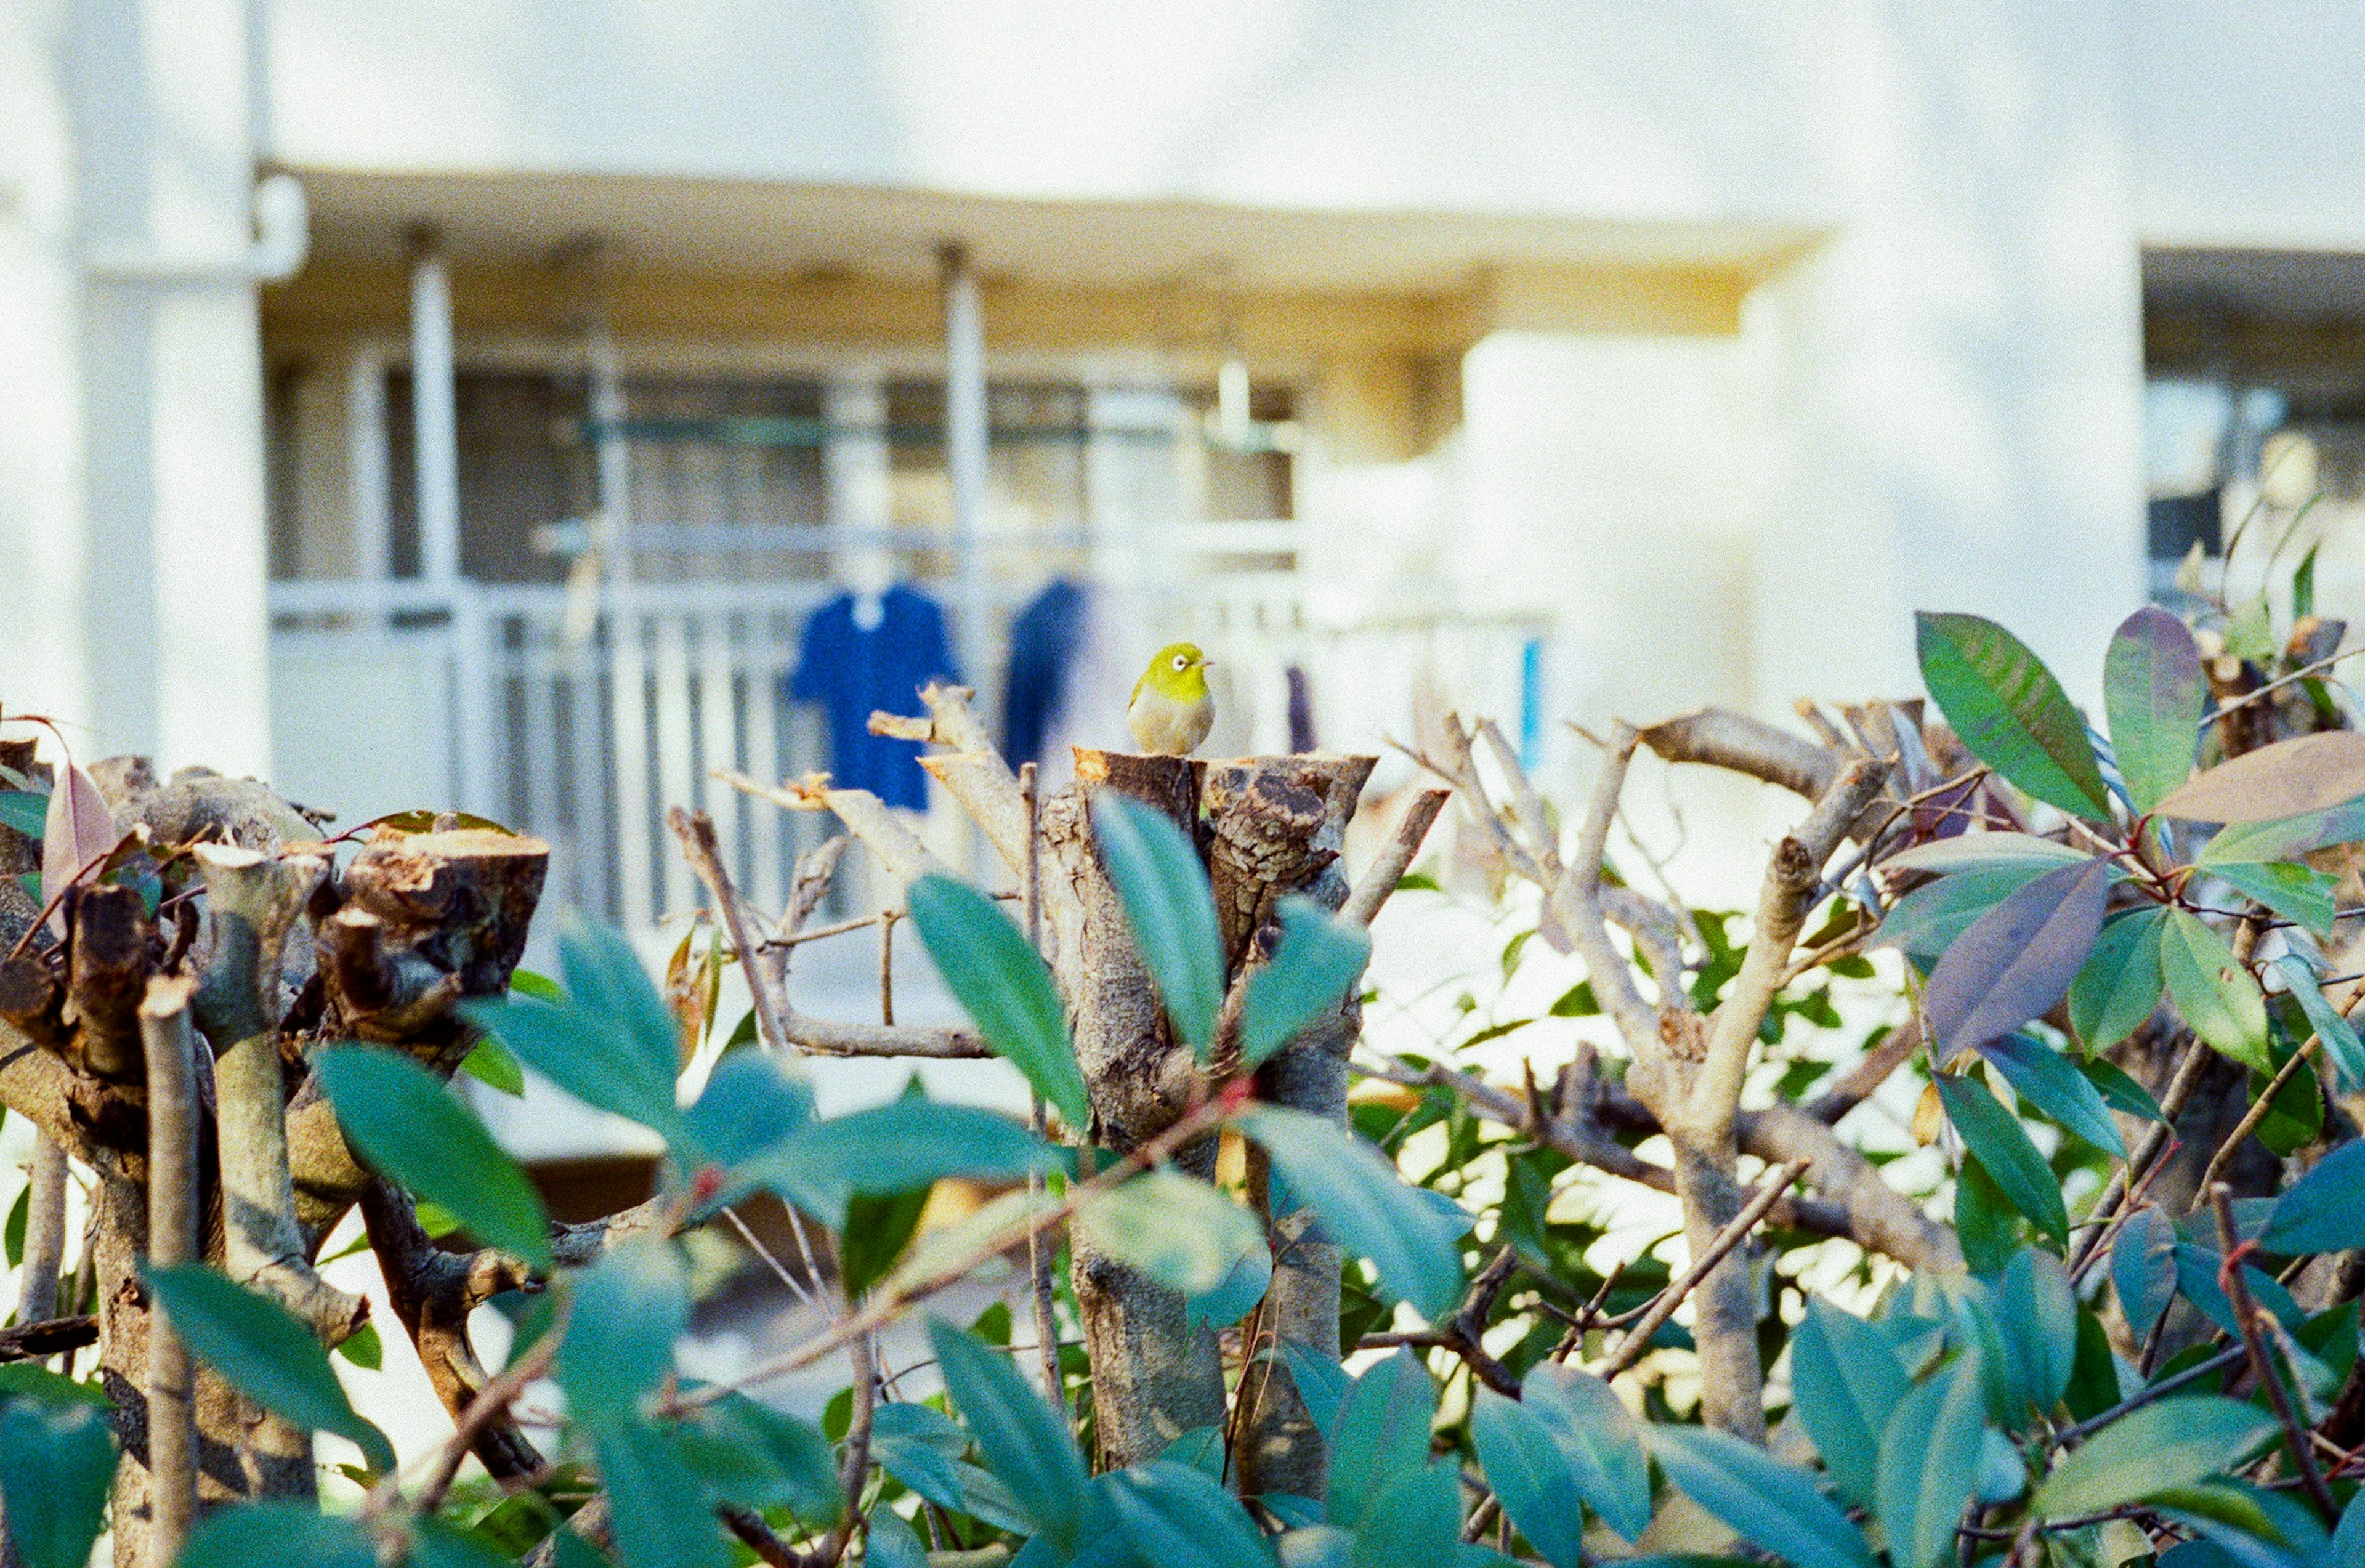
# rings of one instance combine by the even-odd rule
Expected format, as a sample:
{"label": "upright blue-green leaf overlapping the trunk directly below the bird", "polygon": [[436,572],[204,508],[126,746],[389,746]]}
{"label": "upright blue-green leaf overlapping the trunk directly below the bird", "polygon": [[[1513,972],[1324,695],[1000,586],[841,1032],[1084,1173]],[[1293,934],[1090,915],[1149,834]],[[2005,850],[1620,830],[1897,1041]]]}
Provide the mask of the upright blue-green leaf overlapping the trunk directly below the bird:
{"label": "upright blue-green leaf overlapping the trunk directly below the bird", "polygon": [[1112,790],[1093,797],[1093,832],[1159,1000],[1206,1062],[1223,1010],[1223,932],[1199,851],[1166,816]]}

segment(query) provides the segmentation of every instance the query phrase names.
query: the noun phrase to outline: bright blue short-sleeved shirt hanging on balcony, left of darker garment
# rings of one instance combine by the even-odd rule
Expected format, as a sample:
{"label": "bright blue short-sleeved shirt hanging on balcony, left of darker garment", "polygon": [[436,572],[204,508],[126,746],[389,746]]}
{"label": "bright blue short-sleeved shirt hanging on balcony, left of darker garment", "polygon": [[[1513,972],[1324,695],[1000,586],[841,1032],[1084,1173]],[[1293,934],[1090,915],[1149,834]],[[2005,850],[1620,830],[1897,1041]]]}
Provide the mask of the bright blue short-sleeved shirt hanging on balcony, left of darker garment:
{"label": "bright blue short-sleeved shirt hanging on balcony, left of darker garment", "polygon": [[870,733],[870,714],[920,714],[920,688],[960,681],[944,639],[944,608],[896,584],[880,598],[880,624],[854,624],[854,594],[840,594],[804,622],[797,672],[785,695],[821,702],[830,721],[830,780],[870,790],[889,806],[927,809],[920,743]]}

